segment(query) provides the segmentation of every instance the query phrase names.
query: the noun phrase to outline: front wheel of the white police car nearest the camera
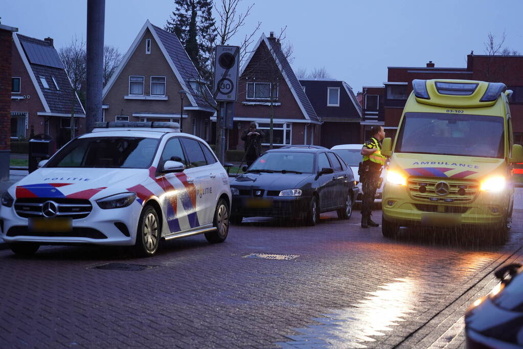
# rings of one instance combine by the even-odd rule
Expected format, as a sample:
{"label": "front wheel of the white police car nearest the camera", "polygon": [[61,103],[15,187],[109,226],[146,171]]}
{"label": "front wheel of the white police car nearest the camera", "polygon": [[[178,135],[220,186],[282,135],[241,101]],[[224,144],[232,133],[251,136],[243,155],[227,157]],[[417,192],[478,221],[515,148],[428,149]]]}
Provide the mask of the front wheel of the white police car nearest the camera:
{"label": "front wheel of the white police car nearest the camera", "polygon": [[145,206],[138,222],[135,250],[141,257],[151,257],[160,245],[160,223],[152,206]]}

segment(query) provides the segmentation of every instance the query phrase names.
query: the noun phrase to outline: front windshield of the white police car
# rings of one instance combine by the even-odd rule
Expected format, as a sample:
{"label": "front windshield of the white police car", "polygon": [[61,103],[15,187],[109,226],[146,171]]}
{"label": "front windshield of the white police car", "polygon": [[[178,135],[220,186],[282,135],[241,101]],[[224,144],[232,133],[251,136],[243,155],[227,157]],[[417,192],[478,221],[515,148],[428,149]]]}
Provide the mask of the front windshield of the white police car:
{"label": "front windshield of the white police car", "polygon": [[46,167],[149,168],[158,139],[141,137],[76,138]]}

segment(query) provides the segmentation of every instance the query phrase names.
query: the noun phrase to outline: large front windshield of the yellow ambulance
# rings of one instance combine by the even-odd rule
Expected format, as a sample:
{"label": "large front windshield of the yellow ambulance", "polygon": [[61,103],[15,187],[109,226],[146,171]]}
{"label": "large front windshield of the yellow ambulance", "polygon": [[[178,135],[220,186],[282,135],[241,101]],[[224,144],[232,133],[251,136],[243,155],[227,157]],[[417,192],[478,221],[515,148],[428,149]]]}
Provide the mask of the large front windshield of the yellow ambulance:
{"label": "large front windshield of the yellow ambulance", "polygon": [[405,113],[395,152],[503,158],[503,121],[485,115]]}

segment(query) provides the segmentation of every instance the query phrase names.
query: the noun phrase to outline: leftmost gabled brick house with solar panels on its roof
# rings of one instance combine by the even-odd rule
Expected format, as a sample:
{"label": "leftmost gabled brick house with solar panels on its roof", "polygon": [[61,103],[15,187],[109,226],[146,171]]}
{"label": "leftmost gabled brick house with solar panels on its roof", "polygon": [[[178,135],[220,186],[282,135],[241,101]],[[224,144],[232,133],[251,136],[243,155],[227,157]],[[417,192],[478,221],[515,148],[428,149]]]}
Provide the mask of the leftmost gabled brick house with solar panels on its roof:
{"label": "leftmost gabled brick house with solar panels on its roof", "polygon": [[13,33],[11,138],[48,134],[62,146],[71,139],[71,115],[76,133],[85,132],[85,110],[75,94],[53,39],[39,40]]}

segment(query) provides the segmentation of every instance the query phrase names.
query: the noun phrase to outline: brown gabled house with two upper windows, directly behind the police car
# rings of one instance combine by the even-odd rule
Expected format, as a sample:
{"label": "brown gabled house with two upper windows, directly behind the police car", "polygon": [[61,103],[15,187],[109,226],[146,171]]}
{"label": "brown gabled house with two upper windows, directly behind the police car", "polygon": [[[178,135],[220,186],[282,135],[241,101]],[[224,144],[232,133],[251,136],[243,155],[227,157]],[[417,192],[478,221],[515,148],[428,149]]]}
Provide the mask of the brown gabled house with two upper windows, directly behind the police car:
{"label": "brown gabled house with two upper windows, directly behind the police car", "polygon": [[210,140],[209,118],[216,103],[209,89],[176,35],[149,20],[123,56],[102,98],[104,121],[180,122],[183,103],[183,132]]}

